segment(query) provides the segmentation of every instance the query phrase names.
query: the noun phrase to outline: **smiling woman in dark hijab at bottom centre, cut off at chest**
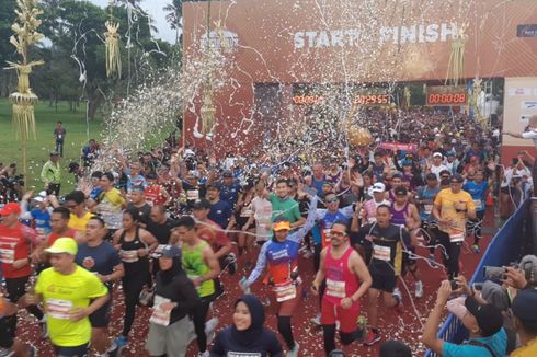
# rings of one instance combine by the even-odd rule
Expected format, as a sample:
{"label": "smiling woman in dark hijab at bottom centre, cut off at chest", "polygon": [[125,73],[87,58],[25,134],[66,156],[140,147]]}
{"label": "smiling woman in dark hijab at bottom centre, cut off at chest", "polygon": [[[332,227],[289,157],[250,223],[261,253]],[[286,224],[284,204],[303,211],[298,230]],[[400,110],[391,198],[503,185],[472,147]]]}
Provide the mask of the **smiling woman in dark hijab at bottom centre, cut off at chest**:
{"label": "smiling woman in dark hijab at bottom centre, cut off at chest", "polygon": [[235,303],[233,324],[215,338],[210,357],[251,354],[260,357],[282,356],[282,346],[276,335],[266,330],[263,304],[253,295],[244,295]]}

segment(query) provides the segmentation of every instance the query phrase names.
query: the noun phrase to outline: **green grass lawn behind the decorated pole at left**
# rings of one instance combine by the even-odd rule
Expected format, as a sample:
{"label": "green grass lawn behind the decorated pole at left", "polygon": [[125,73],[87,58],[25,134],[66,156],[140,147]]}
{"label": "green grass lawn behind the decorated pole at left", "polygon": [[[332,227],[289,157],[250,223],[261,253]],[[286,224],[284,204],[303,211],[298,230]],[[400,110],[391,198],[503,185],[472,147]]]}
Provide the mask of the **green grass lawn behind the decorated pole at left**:
{"label": "green grass lawn behind the decorated pole at left", "polygon": [[[48,160],[49,152],[55,148],[53,131],[56,122],[62,122],[67,130],[64,158],[60,159],[64,169],[61,174],[61,193],[70,192],[73,185],[72,174],[67,172],[71,161],[80,161],[80,151],[90,138],[100,140],[102,130],[101,118],[95,117],[89,125],[85,122],[85,103],[81,103],[77,112],[70,112],[69,105],[61,102],[58,110],[48,106],[48,101],[37,103],[35,106],[35,122],[37,140],[28,141],[28,188],[41,191],[43,184],[39,180],[41,169]],[[89,133],[88,133],[89,131]],[[7,99],[0,99],[0,162],[9,165],[18,163],[18,171],[22,173],[21,142],[11,124],[11,104]]]}

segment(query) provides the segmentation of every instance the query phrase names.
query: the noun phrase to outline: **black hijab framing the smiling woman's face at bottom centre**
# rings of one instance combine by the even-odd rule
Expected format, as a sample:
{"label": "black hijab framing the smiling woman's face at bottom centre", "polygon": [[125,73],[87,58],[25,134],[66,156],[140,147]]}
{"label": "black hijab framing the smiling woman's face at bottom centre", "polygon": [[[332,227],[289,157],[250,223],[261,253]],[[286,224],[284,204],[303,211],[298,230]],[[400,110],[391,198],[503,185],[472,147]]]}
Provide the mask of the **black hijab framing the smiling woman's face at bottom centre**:
{"label": "black hijab framing the smiling woman's face at bottom centre", "polygon": [[244,295],[240,299],[235,302],[235,307],[239,302],[244,302],[250,311],[250,316],[252,319],[252,323],[250,327],[243,331],[237,330],[235,324],[231,325],[231,336],[233,339],[242,345],[250,346],[252,345],[263,333],[263,324],[265,323],[265,310],[263,309],[263,304],[259,299],[253,295]]}

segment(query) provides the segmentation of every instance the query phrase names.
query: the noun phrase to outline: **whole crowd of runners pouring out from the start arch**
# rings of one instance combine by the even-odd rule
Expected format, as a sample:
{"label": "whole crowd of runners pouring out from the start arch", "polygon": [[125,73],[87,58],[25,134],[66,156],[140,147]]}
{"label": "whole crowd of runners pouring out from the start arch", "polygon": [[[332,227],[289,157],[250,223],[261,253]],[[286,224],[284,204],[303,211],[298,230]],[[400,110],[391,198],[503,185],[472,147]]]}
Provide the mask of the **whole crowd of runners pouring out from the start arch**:
{"label": "whole crowd of runners pouring out from the start arch", "polygon": [[[403,116],[414,120],[372,124],[377,140],[347,157],[260,150],[216,160],[169,139],[89,173],[62,197],[43,191],[4,205],[0,356],[36,353],[18,337],[19,309],[35,316],[58,356],[118,356],[139,304],[152,307],[151,356],[184,356],[191,343],[199,356],[301,356],[293,315],[305,290],[319,297],[311,318],[327,355],[338,350],[336,332],[342,345],[390,339],[377,311],[404,309],[398,277],[412,276],[416,298],[427,274],[419,260],[457,278],[461,247],[484,249],[485,212],[509,217],[533,187],[527,152],[500,164],[499,129],[448,113]],[[502,205],[493,212],[494,203]],[[317,272],[311,286],[300,254]],[[216,334],[220,277],[239,270],[245,295],[229,307],[232,325]],[[267,296],[250,295],[256,284]],[[108,336],[118,299],[123,331]],[[282,339],[264,327],[266,303]]]}

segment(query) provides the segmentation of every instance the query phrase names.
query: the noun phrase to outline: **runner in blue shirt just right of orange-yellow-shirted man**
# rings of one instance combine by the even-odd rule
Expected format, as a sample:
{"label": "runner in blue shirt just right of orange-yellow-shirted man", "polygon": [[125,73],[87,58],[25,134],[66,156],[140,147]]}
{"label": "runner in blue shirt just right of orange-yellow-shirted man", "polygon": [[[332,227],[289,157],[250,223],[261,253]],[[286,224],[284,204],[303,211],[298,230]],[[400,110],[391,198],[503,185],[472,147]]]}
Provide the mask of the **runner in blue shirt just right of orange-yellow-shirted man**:
{"label": "runner in blue shirt just right of orange-yellow-shirted man", "polygon": [[[481,233],[481,226],[483,224],[487,189],[489,183],[483,181],[484,174],[482,171],[477,171],[473,177],[468,176],[468,182],[462,186],[462,189],[471,195],[473,204],[476,205],[476,219],[471,219],[468,223],[473,227],[473,246],[475,253],[479,253],[479,240],[483,237]],[[470,231],[470,229],[469,229]]]}

